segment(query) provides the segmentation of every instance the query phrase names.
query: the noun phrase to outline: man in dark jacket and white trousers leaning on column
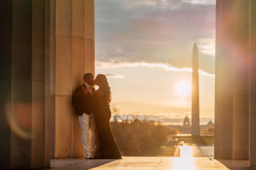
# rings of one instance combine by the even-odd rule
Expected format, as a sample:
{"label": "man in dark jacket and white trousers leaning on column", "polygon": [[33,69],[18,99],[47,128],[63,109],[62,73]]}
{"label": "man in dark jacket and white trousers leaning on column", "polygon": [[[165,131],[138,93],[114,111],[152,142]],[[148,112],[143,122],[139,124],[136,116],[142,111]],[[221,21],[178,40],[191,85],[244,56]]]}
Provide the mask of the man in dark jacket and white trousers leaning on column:
{"label": "man in dark jacket and white trousers leaning on column", "polygon": [[[83,79],[83,85],[79,86],[74,92],[72,104],[75,108],[82,129],[82,143],[85,151],[85,158],[93,159],[97,149],[92,109],[92,95],[95,92],[95,89],[93,88],[94,77],[92,73],[86,73],[84,74]],[[85,93],[83,92],[83,89],[87,89],[89,92]],[[89,147],[89,129],[92,132],[91,147]]]}

